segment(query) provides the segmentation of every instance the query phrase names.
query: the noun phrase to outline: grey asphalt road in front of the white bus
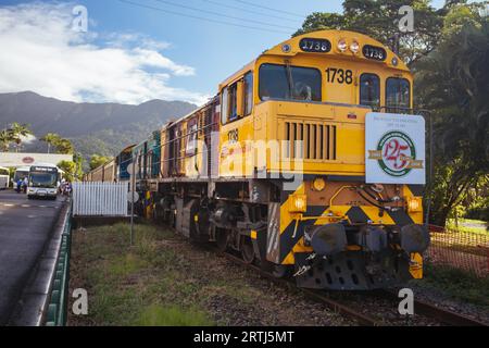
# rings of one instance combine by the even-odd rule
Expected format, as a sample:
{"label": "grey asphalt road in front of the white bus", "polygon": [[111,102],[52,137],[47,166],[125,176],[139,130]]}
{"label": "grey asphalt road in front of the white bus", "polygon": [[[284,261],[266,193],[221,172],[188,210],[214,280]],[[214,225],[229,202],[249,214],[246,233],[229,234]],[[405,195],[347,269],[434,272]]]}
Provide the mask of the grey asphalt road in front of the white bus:
{"label": "grey asphalt road in front of the white bus", "polygon": [[35,269],[61,209],[61,199],[28,200],[0,191],[0,325],[5,325]]}

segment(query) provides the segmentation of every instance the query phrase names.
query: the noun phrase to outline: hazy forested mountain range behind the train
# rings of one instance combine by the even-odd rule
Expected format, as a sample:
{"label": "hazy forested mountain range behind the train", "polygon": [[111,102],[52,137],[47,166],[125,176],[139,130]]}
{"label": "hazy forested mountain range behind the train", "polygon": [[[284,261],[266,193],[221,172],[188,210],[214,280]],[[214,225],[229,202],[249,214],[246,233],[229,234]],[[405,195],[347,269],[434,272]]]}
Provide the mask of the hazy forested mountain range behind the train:
{"label": "hazy forested mountain range behind the train", "polygon": [[[18,122],[28,124],[36,138],[57,133],[68,138],[88,160],[93,153],[114,156],[196,108],[184,101],[158,99],[129,105],[62,101],[32,91],[0,94],[0,129]],[[36,139],[23,150],[43,152],[47,145]]]}

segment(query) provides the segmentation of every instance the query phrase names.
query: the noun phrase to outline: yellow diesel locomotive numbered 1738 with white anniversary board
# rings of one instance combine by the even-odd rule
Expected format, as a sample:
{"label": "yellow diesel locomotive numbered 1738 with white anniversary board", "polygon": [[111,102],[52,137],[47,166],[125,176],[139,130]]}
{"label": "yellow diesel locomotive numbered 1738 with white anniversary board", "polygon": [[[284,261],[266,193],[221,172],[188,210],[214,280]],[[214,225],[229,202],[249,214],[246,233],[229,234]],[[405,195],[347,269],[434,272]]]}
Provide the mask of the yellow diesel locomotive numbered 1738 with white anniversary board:
{"label": "yellow diesel locomotive numbered 1738 with white anniversary board", "polygon": [[264,51],[134,147],[141,214],[298,286],[423,275],[425,124],[380,42],[321,30]]}

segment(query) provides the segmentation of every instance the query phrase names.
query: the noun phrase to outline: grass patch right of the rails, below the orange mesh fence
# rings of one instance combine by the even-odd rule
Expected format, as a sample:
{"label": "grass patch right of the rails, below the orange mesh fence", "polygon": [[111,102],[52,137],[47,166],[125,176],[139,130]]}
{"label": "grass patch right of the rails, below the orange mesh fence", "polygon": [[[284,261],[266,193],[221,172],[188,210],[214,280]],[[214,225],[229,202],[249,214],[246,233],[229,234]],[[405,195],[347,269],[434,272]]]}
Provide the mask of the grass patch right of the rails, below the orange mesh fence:
{"label": "grass patch right of the rails, below the orange mesh fence", "polygon": [[489,309],[489,277],[479,278],[463,270],[431,263],[425,264],[425,272],[417,284]]}

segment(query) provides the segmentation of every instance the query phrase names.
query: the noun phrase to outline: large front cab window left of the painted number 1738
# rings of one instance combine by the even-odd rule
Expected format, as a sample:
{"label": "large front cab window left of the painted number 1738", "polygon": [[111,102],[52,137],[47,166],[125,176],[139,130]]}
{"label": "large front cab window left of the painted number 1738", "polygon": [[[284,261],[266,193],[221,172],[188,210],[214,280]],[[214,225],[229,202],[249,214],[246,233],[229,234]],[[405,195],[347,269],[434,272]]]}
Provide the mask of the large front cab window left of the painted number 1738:
{"label": "large front cab window left of the painted number 1738", "polygon": [[322,80],[317,69],[262,64],[259,79],[261,100],[321,101]]}

